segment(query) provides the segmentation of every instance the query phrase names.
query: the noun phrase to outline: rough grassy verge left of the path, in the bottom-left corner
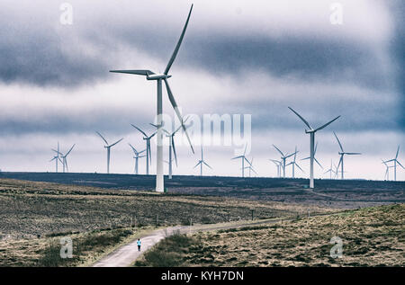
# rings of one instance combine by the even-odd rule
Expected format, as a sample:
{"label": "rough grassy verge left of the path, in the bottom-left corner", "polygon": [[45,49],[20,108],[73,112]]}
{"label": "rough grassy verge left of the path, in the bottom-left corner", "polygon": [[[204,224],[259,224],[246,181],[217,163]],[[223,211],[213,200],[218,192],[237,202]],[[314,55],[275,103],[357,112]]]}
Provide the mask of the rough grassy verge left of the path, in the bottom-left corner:
{"label": "rough grassy verge left of the path, in the bottom-left corner", "polygon": [[[0,266],[89,266],[120,245],[152,228],[113,228],[88,233],[61,233],[44,238],[0,242]],[[61,258],[61,237],[72,240],[72,258]]]}

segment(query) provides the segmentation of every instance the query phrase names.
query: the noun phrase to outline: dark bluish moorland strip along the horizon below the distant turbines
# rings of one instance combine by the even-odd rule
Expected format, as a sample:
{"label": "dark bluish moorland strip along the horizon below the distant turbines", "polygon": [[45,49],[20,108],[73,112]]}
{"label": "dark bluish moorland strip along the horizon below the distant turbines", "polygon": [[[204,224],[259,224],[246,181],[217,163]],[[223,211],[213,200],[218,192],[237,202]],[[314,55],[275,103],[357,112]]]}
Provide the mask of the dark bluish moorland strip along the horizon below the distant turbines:
{"label": "dark bluish moorland strip along the horizon below the distant turbines", "polygon": [[[154,175],[0,173],[0,178],[94,186],[118,190],[153,190]],[[168,192],[273,200],[338,209],[357,209],[405,202],[404,182],[316,180],[309,191],[306,179],[173,176],[165,180]]]}

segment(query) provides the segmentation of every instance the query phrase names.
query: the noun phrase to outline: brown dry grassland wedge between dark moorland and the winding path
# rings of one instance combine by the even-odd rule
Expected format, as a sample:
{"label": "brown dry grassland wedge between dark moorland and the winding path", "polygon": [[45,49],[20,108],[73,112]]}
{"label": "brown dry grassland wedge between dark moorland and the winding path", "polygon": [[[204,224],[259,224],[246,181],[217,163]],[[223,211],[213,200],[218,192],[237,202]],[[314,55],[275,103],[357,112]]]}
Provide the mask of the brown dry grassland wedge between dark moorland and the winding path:
{"label": "brown dry grassland wedge between dark moorland and the winding path", "polygon": [[0,179],[0,238],[37,238],[105,227],[275,218],[331,209],[225,197],[118,191]]}

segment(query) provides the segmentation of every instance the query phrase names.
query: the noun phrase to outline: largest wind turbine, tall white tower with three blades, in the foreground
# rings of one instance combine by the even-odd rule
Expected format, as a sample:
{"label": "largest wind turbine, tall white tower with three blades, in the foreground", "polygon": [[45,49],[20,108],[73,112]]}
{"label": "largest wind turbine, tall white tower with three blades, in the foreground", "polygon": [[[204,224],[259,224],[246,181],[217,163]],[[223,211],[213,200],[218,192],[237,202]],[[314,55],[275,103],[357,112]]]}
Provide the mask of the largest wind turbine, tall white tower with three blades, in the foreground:
{"label": "largest wind turbine, tall white tower with three blades, in the foreground", "polygon": [[[169,98],[169,101],[171,102],[173,108],[175,109],[175,114],[177,115],[178,119],[180,121],[183,121],[182,119],[182,114],[180,113],[177,103],[175,102],[175,97],[172,94],[172,91],[170,89],[170,86],[168,85],[167,79],[171,77],[168,72],[170,70],[170,67],[172,67],[173,62],[175,61],[175,57],[177,55],[178,50],[180,49],[180,45],[183,41],[184,38],[184,33],[185,30],[187,29],[188,22],[190,20],[191,13],[193,11],[193,4],[190,8],[190,12],[188,13],[187,20],[184,24],[183,31],[180,35],[180,39],[177,41],[177,45],[175,46],[175,51],[172,54],[172,57],[170,58],[169,62],[167,63],[165,72],[163,74],[155,74],[154,72],[146,69],[142,70],[111,70],[111,72],[116,72],[116,73],[125,73],[125,74],[130,74],[130,75],[138,75],[138,76],[146,76],[147,80],[156,80],[157,81],[157,175],[156,175],[156,191],[163,192],[164,191],[164,176],[163,176],[163,144],[162,144],[162,81],[165,82],[166,85],[166,90],[167,90],[167,95]],[[183,126],[185,135],[188,139],[188,142],[190,143],[190,147],[193,150],[193,146],[191,144],[191,140],[188,137],[187,131],[185,127]]]}

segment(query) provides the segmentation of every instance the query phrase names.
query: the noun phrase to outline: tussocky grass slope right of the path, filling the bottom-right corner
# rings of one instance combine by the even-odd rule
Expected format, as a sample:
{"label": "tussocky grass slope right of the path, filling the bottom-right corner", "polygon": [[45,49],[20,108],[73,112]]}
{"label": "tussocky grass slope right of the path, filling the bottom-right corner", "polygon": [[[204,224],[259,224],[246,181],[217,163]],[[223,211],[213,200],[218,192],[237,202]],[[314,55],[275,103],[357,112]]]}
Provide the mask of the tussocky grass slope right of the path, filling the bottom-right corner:
{"label": "tussocky grass slope right of the path, filling the bottom-right corner", "polygon": [[[342,239],[341,258],[329,255],[332,236]],[[405,204],[170,236],[135,265],[405,266]]]}

